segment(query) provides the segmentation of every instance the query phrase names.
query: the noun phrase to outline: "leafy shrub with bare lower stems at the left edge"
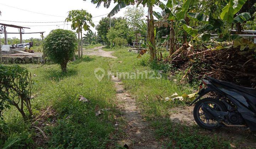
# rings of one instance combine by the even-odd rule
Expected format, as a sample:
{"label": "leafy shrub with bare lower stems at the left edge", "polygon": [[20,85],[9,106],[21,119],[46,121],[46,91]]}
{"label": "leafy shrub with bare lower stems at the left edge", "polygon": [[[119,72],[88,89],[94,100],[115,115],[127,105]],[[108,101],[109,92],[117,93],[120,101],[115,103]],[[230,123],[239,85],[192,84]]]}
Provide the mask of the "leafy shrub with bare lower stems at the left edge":
{"label": "leafy shrub with bare lower stems at the left edge", "polygon": [[[2,110],[13,105],[21,113],[24,120],[32,116],[31,110],[32,80],[26,68],[18,65],[0,65],[0,117]],[[26,116],[23,108],[27,107],[29,116]]]}

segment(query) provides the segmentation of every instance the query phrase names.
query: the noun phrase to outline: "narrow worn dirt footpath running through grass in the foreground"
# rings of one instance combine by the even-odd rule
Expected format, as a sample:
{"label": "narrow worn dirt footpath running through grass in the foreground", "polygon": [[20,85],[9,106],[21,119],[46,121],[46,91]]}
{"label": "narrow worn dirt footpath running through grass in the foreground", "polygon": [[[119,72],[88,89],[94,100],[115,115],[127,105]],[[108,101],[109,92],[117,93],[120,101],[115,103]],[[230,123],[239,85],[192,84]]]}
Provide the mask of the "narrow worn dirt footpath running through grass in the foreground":
{"label": "narrow worn dirt footpath running through grass in the foreground", "polygon": [[129,148],[133,149],[161,148],[155,140],[149,122],[142,119],[140,111],[136,106],[135,99],[131,98],[126,92],[121,80],[112,76],[112,81],[115,83],[117,89],[117,98],[121,101],[119,107],[122,109],[123,116],[127,120],[124,132],[126,132],[128,137],[124,140],[120,140],[119,144],[127,144]]}

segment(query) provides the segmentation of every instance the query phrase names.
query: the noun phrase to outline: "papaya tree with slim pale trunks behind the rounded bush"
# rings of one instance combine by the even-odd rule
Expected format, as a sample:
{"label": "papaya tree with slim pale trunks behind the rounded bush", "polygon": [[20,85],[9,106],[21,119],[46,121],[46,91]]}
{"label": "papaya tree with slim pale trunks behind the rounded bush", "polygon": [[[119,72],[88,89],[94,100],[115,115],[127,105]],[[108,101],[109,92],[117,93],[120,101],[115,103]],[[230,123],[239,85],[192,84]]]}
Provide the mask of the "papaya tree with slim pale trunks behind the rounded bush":
{"label": "papaya tree with slim pale trunks behind the rounded bush", "polygon": [[[71,10],[69,11],[68,17],[66,18],[67,22],[72,22],[71,28],[77,29],[76,32],[78,33],[78,57],[82,57],[82,28],[87,31],[90,26],[87,24],[89,23],[92,27],[94,27],[94,23],[92,22],[92,15],[91,13],[87,12],[86,10]],[[80,39],[81,34],[81,39]],[[81,49],[80,49],[81,47]],[[81,55],[80,55],[81,51]]]}

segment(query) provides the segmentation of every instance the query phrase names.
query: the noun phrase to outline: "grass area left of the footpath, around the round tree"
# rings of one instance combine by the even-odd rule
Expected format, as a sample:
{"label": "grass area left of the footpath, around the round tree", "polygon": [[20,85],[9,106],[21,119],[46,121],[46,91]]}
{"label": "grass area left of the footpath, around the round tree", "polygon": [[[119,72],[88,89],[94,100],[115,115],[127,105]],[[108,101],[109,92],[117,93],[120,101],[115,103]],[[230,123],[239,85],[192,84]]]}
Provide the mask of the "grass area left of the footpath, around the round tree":
{"label": "grass area left of the footpath, around the round tree", "polygon": [[[49,136],[47,147],[105,148],[106,145],[112,144],[110,138],[114,136],[114,124],[119,121],[116,118],[119,111],[115,109],[116,90],[113,82],[106,76],[101,82],[94,76],[95,68],[109,69],[107,61],[108,58],[104,57],[84,56],[81,60],[70,62],[67,73],[62,73],[58,65],[22,65],[35,74],[32,92],[33,113],[36,116],[42,114],[47,107],[51,107],[57,113],[54,117],[57,122],[43,129]],[[78,100],[79,95],[90,102],[81,103]],[[96,106],[109,110],[102,112],[100,116],[95,116]],[[33,145],[32,142],[24,143],[35,135],[35,129],[30,127],[31,122],[24,123],[15,109],[5,112],[4,118],[9,128],[6,130],[6,136],[13,134],[19,138],[25,136],[25,139],[12,144],[11,147],[15,148],[22,144]],[[53,117],[46,121],[52,122]],[[3,144],[2,141],[1,146]]]}

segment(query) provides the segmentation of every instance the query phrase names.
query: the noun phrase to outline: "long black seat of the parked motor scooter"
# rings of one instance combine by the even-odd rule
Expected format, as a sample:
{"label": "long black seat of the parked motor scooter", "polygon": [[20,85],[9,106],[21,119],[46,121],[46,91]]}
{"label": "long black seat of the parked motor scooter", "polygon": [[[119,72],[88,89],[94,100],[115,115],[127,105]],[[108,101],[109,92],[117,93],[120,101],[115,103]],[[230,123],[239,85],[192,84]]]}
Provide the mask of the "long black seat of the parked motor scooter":
{"label": "long black seat of the parked motor scooter", "polygon": [[219,84],[225,85],[225,86],[227,86],[229,88],[233,88],[235,90],[239,90],[241,92],[245,92],[245,93],[248,93],[248,94],[256,96],[256,89],[254,89],[254,88],[241,87],[239,85],[235,85],[235,84],[232,84],[232,83],[229,83],[229,82],[225,82],[225,81],[220,81],[220,80],[208,77],[208,76],[207,76],[207,78],[209,78],[210,80],[212,80],[214,82],[217,82]]}

